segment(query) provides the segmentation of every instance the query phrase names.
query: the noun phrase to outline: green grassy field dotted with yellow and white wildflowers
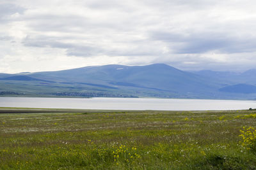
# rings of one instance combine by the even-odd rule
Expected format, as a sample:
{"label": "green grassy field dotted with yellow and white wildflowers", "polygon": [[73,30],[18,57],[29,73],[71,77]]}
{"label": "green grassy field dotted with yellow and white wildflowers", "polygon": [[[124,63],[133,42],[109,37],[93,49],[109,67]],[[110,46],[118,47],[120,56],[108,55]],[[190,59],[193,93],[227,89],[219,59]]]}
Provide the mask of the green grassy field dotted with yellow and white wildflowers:
{"label": "green grassy field dotted with yellow and white wildflowers", "polygon": [[253,110],[0,113],[0,169],[256,169]]}

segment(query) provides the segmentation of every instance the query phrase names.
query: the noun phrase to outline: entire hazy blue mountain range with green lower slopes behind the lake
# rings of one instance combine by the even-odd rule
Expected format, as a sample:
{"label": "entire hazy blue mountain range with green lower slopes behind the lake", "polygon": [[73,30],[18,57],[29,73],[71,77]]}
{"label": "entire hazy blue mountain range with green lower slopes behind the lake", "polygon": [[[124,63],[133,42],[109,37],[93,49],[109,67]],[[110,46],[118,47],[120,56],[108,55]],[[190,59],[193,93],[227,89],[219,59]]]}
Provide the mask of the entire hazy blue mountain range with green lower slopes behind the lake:
{"label": "entire hazy blue mountain range with green lower slopes behind the lake", "polygon": [[0,96],[256,99],[256,69],[189,72],[152,64],[1,73]]}

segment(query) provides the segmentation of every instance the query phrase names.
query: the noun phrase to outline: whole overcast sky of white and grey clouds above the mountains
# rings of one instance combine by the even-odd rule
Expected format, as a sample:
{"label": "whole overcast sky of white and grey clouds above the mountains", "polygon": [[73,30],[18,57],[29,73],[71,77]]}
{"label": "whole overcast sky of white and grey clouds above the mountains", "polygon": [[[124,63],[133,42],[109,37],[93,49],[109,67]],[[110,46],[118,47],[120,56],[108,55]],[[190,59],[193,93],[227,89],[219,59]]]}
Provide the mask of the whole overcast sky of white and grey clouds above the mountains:
{"label": "whole overcast sky of white and grey clouds above the mountains", "polygon": [[164,63],[256,69],[253,0],[1,0],[0,73]]}

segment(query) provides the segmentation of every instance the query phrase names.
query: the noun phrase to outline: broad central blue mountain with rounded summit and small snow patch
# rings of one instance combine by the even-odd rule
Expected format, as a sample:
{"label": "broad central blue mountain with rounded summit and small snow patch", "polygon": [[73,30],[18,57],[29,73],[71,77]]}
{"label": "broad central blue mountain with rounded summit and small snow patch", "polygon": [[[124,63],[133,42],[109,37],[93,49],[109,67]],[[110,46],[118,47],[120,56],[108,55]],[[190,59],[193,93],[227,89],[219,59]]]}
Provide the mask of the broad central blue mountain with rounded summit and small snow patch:
{"label": "broad central blue mountain with rounded summit and small snow patch", "polygon": [[94,83],[122,89],[138,87],[169,92],[203,92],[218,86],[210,80],[181,71],[166,64],[149,66],[92,66],[65,71],[30,74],[35,78],[49,81],[68,81],[72,83]]}

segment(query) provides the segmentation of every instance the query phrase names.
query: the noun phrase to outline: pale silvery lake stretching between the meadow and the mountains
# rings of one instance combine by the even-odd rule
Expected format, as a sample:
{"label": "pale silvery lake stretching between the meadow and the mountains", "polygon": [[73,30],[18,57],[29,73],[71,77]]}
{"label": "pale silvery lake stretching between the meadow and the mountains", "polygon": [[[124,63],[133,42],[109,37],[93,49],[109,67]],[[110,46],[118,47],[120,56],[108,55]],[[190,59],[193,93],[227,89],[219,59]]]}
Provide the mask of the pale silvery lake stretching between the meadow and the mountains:
{"label": "pale silvery lake stretching between the meadow and the mountains", "polygon": [[256,101],[156,98],[0,97],[0,107],[95,110],[246,110]]}

